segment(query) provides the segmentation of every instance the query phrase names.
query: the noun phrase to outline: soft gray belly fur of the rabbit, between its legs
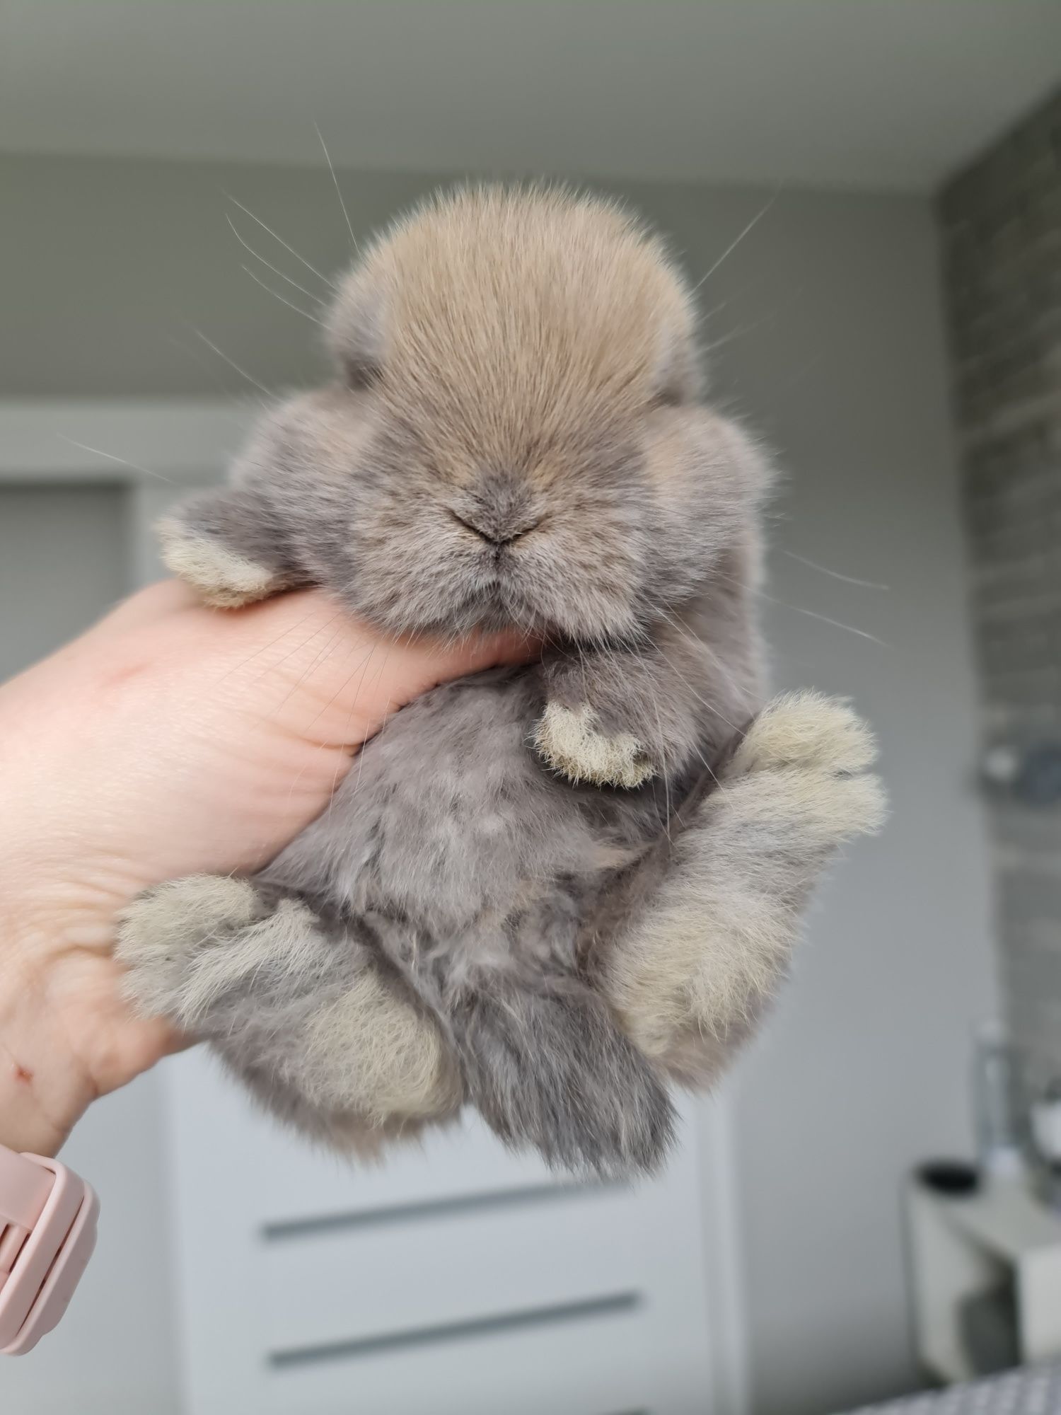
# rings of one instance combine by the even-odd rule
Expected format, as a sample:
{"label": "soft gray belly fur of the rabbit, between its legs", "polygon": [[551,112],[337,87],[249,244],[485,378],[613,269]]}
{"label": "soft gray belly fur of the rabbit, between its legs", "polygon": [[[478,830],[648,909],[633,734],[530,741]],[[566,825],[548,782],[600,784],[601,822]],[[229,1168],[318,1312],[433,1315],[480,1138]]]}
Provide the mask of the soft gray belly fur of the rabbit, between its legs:
{"label": "soft gray belly fur of the rabbit, between its legs", "polygon": [[539,712],[521,669],[436,688],[366,744],[260,883],[356,917],[443,1017],[491,975],[576,974],[583,924],[662,833],[658,787],[557,790],[530,741]]}

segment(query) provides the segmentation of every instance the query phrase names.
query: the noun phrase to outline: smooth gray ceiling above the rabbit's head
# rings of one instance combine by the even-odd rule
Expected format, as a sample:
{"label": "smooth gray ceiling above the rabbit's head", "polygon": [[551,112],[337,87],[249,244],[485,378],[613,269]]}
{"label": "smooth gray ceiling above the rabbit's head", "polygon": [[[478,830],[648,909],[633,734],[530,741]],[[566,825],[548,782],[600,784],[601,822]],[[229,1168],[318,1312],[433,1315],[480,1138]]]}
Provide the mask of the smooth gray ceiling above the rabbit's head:
{"label": "smooth gray ceiling above the rabbit's head", "polygon": [[1061,0],[0,0],[0,147],[925,191]]}

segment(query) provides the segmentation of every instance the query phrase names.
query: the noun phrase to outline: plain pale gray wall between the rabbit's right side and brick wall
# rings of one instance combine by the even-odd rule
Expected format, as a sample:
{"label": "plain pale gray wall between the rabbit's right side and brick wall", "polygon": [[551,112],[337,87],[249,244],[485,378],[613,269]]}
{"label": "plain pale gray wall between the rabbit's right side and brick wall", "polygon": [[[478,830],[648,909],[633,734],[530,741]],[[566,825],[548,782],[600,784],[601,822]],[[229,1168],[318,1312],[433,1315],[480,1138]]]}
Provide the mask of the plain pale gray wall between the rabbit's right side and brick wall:
{"label": "plain pale gray wall between the rabbit's right side and brick wall", "polygon": [[821,1415],[915,1378],[898,1182],[968,1153],[970,1024],[996,985],[929,212],[788,198],[757,263],[802,286],[798,317],[727,351],[789,473],[770,593],[884,641],[770,607],[778,682],[854,698],[893,799],[823,891],[738,1075],[757,1409]]}

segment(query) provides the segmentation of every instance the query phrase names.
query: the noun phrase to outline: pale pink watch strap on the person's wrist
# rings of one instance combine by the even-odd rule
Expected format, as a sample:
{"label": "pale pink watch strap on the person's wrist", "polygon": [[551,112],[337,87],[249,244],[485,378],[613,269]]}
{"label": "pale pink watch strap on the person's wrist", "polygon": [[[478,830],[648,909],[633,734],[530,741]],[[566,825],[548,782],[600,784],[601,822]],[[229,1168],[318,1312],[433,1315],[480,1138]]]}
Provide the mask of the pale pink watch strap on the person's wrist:
{"label": "pale pink watch strap on the person's wrist", "polygon": [[65,1165],[0,1145],[0,1356],[58,1323],[96,1245],[99,1200]]}

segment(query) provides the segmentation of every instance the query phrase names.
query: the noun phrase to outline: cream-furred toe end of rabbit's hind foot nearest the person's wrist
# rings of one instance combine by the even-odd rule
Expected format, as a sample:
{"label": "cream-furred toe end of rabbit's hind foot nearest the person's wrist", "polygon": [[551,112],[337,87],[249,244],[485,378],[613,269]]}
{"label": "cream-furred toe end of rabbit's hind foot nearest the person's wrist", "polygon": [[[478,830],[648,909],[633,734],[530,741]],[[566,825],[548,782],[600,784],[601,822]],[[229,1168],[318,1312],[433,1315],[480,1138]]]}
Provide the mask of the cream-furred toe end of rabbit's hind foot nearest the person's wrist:
{"label": "cream-furred toe end of rabbit's hind foot nearest the person's wrist", "polygon": [[228,874],[190,874],[146,890],[119,921],[115,957],[126,971],[126,998],[141,1016],[191,1024],[204,947],[235,938],[259,913],[253,886]]}

